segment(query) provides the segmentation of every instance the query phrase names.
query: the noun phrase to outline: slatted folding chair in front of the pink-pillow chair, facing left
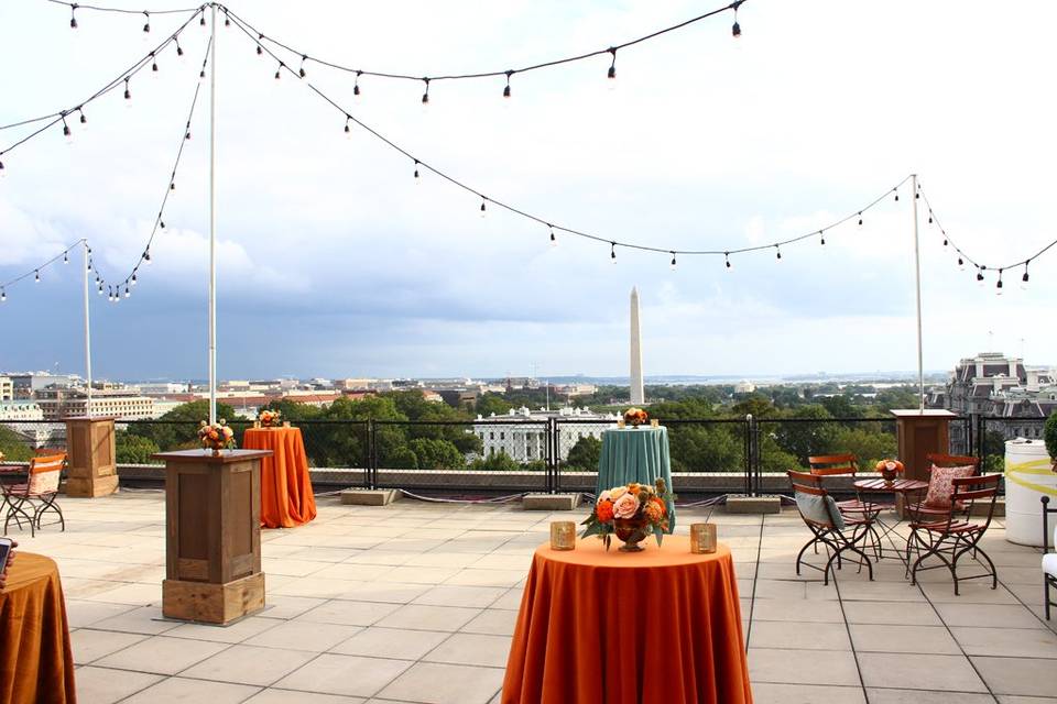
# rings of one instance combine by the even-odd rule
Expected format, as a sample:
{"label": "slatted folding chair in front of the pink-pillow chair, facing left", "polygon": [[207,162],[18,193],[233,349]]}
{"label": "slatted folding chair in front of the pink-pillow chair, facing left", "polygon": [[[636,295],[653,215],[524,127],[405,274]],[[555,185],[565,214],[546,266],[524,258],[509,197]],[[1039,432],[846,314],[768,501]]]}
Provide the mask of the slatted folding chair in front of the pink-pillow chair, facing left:
{"label": "slatted folding chair in front of the pink-pillow chair, facing left", "polygon": [[[958,595],[959,581],[990,576],[991,588],[998,588],[999,573],[994,562],[980,547],[980,539],[988,531],[991,519],[994,517],[994,504],[999,496],[1001,479],[1001,474],[987,474],[952,480],[955,492],[947,515],[940,520],[936,520],[933,516],[925,516],[911,522],[911,538],[906,542],[906,561],[909,565],[912,584],[917,584],[918,571],[946,566],[955,581],[955,596]],[[968,518],[972,515],[973,505],[978,503],[987,507],[983,522],[973,522]],[[911,565],[911,551],[914,549],[917,550],[918,557]],[[958,560],[967,552],[972,552],[972,557],[977,560],[982,556],[990,569],[983,574],[959,578]],[[922,566],[925,560],[931,557],[939,558],[940,564]]]}

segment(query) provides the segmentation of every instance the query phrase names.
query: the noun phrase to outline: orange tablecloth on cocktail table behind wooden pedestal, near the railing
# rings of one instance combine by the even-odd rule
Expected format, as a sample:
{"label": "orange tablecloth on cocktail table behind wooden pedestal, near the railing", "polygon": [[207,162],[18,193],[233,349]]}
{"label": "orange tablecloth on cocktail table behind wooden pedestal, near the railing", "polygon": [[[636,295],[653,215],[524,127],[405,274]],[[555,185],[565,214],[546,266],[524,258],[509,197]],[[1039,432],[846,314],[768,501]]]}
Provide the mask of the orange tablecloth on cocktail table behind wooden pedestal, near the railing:
{"label": "orange tablecloth on cocktail table behind wooden pedestal, near the railing", "polygon": [[293,528],[316,517],[316,497],[301,428],[249,428],[246,450],[271,450],[261,460],[261,525]]}

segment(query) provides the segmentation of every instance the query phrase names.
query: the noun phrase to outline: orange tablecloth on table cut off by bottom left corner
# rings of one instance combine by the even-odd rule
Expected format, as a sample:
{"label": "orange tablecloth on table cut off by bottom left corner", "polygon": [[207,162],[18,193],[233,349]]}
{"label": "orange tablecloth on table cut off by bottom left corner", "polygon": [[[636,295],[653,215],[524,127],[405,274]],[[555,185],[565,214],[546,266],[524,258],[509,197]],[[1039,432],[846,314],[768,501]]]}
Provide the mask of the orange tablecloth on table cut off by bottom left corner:
{"label": "orange tablecloth on table cut off by bottom left corner", "polygon": [[76,702],[74,653],[55,561],[19,551],[0,591],[0,702]]}

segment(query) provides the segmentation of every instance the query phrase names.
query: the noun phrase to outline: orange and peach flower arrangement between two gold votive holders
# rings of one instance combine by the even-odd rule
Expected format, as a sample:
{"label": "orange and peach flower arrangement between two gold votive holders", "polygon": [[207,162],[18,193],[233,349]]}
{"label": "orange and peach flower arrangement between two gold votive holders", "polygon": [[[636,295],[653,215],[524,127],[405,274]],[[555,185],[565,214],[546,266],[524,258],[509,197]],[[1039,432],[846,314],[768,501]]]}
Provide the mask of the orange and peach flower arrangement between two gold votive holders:
{"label": "orange and peach flower arrangement between two gold votive holders", "polygon": [[624,542],[620,548],[624,552],[642,550],[640,541],[653,534],[657,546],[668,529],[668,506],[672,494],[663,479],[653,486],[650,484],[626,484],[602,492],[595,503],[595,509],[581,526],[587,526],[581,538],[599,536],[609,550],[612,535]]}

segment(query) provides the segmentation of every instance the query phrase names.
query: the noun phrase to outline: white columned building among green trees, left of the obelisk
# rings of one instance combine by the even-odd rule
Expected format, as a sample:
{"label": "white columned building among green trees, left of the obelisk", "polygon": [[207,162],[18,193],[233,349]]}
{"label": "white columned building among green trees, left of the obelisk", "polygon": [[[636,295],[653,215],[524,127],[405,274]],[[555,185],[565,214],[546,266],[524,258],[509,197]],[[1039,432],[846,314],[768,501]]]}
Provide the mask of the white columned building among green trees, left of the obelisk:
{"label": "white columned building among green trees, left of the obelisk", "polygon": [[[589,408],[562,408],[558,410],[530,410],[512,408],[506,415],[477,417],[473,432],[481,439],[482,454],[506,453],[515,462],[535,462],[547,459],[547,427],[552,418],[558,422],[558,459],[566,460],[569,450],[591,437],[601,440],[602,431],[615,428],[619,417],[613,414],[596,414]],[[577,421],[584,422],[577,422]]]}

